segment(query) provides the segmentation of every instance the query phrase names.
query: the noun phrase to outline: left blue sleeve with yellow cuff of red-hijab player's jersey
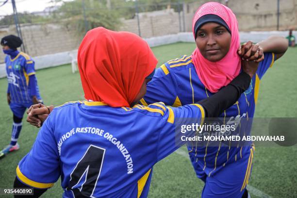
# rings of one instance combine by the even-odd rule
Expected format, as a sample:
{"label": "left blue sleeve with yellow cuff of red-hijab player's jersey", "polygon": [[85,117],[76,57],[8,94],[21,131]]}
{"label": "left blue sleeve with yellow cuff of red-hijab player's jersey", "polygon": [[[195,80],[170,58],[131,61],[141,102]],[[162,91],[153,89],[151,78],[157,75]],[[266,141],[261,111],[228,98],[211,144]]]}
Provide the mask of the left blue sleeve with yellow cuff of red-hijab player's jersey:
{"label": "left blue sleeve with yellow cuff of red-hijab player's jersey", "polygon": [[59,154],[49,122],[50,115],[16,168],[18,180],[34,188],[50,188],[60,177]]}

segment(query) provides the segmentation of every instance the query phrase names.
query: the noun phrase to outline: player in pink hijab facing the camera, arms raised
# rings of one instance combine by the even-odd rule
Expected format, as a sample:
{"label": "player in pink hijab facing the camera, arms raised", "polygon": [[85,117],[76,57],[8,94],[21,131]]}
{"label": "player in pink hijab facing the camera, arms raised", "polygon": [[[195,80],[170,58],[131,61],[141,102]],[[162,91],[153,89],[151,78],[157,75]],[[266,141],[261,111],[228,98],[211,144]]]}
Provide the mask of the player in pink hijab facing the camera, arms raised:
{"label": "player in pink hijab facing the camera, arms raised", "polygon": [[[197,44],[193,54],[170,60],[157,69],[140,102],[148,105],[162,101],[165,105],[181,106],[211,97],[240,74],[242,58],[261,63],[248,90],[219,117],[226,122],[230,117],[253,117],[260,80],[287,50],[287,40],[273,36],[258,44],[247,42],[240,48],[236,16],[217,2],[201,5],[192,27]],[[188,151],[198,178],[205,182],[202,198],[248,197],[252,145],[238,148],[193,145]]]}

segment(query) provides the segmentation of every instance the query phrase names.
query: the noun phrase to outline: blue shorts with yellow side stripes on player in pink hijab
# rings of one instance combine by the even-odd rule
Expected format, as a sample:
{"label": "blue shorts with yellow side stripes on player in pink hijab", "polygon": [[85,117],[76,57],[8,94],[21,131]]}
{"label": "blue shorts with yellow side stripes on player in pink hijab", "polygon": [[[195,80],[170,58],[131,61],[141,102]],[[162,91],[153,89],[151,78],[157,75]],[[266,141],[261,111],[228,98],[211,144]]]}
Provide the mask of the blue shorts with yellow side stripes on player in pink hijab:
{"label": "blue shorts with yellow side stripes on player in pink hijab", "polygon": [[189,152],[197,177],[205,183],[201,198],[241,198],[251,174],[253,154],[251,147],[240,160],[226,163],[208,177],[203,166],[196,162],[195,153]]}

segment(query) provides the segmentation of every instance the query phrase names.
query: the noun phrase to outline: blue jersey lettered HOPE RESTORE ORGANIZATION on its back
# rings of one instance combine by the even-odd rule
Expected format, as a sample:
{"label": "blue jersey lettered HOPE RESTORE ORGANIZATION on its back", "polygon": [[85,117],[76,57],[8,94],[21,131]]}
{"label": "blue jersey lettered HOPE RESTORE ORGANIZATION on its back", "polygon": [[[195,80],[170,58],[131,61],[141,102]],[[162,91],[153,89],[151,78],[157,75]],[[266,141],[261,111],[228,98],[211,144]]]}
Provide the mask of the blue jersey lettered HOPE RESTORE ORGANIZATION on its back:
{"label": "blue jersey lettered HOPE RESTORE ORGANIZATION on its back", "polygon": [[179,148],[177,120],[202,117],[198,104],[114,108],[102,102],[69,102],[50,113],[17,166],[17,178],[49,188],[61,176],[65,198],[147,197],[153,165]]}

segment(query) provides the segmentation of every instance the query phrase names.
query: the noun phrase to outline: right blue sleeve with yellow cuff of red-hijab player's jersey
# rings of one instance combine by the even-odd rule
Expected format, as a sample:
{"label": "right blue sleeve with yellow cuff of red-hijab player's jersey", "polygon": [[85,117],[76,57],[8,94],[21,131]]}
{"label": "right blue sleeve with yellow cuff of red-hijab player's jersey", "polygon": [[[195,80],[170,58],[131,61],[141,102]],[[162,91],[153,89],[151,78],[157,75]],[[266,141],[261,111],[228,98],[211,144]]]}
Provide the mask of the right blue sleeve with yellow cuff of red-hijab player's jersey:
{"label": "right blue sleeve with yellow cuff of red-hijab player's jersey", "polygon": [[199,104],[189,104],[181,107],[164,105],[164,107],[163,126],[159,132],[157,149],[158,161],[185,144],[185,142],[181,141],[182,135],[192,136],[195,134],[195,132],[181,133],[181,125],[202,124],[205,115],[203,107]]}

